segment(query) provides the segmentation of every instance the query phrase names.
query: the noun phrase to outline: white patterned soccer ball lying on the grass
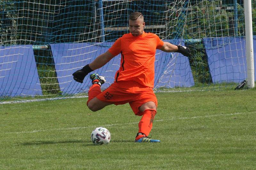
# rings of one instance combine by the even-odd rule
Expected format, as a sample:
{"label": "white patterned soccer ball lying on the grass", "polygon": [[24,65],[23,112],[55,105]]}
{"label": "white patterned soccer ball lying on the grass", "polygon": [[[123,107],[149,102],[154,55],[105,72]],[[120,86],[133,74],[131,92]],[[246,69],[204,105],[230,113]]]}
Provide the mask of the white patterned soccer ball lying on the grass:
{"label": "white patterned soccer ball lying on the grass", "polygon": [[91,140],[95,145],[108,144],[110,142],[110,132],[106,128],[96,128],[92,131]]}

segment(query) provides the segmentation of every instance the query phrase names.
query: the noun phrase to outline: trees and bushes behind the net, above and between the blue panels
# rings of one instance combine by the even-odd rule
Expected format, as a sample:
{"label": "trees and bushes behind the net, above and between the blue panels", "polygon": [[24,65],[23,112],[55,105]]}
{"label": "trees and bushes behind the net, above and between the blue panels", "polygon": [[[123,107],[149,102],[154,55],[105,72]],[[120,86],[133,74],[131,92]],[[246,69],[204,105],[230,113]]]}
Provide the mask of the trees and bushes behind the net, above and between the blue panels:
{"label": "trees and bushes behind the net, above and between the blue panels", "polygon": [[[168,28],[148,29],[164,39],[183,38],[192,50],[190,66],[195,82],[212,82],[202,39],[204,37],[239,36],[245,33],[243,1],[237,0],[190,0],[183,6],[174,1],[132,1],[122,5],[113,1],[103,2],[104,26],[127,26],[129,13],[144,14],[147,25],[165,25]],[[171,4],[173,6],[167,6]],[[122,6],[122,9],[120,9]],[[100,10],[94,0],[53,1],[0,0],[1,45],[99,42]],[[187,8],[189,7],[189,8]],[[148,9],[152,10],[148,10]],[[168,9],[177,9],[177,11]],[[234,16],[237,14],[237,32]],[[113,16],[118,18],[112,19]],[[168,16],[163,19],[163,16]],[[207,23],[207,24],[205,24]],[[256,0],[252,0],[252,27],[256,35]],[[184,28],[184,29],[183,29]],[[106,31],[105,41],[115,41],[128,30]],[[51,49],[34,50],[44,94],[61,93],[58,89]],[[48,77],[53,76],[53,77]],[[54,84],[56,83],[56,84]],[[54,90],[52,90],[54,89]]]}

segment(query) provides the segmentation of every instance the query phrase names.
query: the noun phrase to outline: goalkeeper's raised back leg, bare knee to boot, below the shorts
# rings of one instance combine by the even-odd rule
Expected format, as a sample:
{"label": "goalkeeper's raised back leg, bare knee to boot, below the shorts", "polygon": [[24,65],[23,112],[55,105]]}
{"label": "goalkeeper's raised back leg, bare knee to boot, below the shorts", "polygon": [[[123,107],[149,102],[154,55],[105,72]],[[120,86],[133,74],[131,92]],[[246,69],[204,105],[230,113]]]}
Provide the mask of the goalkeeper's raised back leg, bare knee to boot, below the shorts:
{"label": "goalkeeper's raised back leg, bare knee to boot, below the shorts", "polygon": [[102,102],[96,98],[101,93],[100,86],[105,83],[105,78],[93,73],[90,75],[90,79],[92,80],[92,86],[88,91],[87,106],[91,111],[96,112],[111,103]]}

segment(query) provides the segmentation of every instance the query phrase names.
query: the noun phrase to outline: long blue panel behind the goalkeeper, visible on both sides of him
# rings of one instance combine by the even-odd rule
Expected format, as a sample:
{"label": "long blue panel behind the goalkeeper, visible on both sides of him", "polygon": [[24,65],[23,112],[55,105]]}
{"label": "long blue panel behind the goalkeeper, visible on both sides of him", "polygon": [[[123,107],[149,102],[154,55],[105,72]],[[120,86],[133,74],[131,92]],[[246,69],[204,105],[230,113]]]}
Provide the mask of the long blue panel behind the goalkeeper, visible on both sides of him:
{"label": "long blue panel behind the goalkeeper, visible on both sides of him", "polygon": [[[66,94],[87,92],[91,86],[89,76],[84,78],[83,83],[78,83],[73,80],[72,73],[91,63],[100,54],[106,52],[113,43],[114,42],[106,42],[100,43],[100,45],[91,43],[51,44],[60,90]],[[106,89],[114,82],[115,73],[120,67],[120,60],[121,55],[119,54],[110,60],[105,66],[95,70],[96,73],[104,76],[107,80],[107,83],[102,85],[103,89]],[[171,60],[173,66],[168,66],[168,62]],[[168,73],[164,75],[164,72],[166,73],[166,71],[171,74],[170,82],[172,82],[172,87],[190,87],[194,85],[188,58],[181,54],[173,53],[172,55],[171,53],[157,50],[155,70],[158,71],[155,76],[155,85],[164,86],[166,85],[165,81],[167,81],[167,79],[170,81],[170,75],[168,75]]]}

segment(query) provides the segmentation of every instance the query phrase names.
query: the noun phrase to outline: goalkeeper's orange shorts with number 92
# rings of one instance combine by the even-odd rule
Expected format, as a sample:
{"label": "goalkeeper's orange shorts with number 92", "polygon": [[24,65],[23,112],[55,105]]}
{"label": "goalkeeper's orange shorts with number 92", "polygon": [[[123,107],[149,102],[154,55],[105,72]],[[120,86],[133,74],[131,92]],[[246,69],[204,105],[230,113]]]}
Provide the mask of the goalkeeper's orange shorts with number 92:
{"label": "goalkeeper's orange shorts with number 92", "polygon": [[146,102],[154,102],[157,107],[153,89],[136,81],[117,81],[96,96],[100,101],[111,104],[129,103],[135,115],[141,116],[139,107]]}

